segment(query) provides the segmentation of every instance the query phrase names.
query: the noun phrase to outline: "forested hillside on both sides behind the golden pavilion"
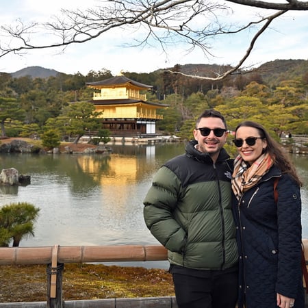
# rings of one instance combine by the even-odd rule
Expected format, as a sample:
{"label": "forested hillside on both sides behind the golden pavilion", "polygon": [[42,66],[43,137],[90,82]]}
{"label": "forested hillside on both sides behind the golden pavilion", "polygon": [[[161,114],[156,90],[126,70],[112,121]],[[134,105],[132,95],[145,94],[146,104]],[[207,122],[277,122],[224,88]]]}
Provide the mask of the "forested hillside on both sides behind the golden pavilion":
{"label": "forested hillside on both sides behind the golden pavilion", "polygon": [[[215,76],[228,66],[185,64],[168,70],[190,75]],[[49,75],[50,74],[50,75]],[[221,81],[184,77],[165,69],[151,73],[123,73],[126,77],[153,86],[149,101],[170,105],[162,110],[159,130],[192,138],[196,117],[207,108],[225,114],[230,129],[240,120],[257,120],[273,136],[281,131],[308,133],[308,61],[275,60],[253,71],[238,71]],[[20,76],[20,77],[16,77]],[[70,120],[94,108],[87,103],[92,90],[86,82],[112,77],[110,70],[91,70],[87,75],[68,75],[55,70],[31,67],[8,74],[0,73],[0,126],[5,136],[42,136],[53,131],[58,138],[86,133]],[[73,103],[73,104],[72,104]],[[89,105],[90,104],[90,105]],[[86,116],[89,116],[87,114]],[[85,118],[86,118],[85,116]],[[97,129],[98,123],[92,127]]]}

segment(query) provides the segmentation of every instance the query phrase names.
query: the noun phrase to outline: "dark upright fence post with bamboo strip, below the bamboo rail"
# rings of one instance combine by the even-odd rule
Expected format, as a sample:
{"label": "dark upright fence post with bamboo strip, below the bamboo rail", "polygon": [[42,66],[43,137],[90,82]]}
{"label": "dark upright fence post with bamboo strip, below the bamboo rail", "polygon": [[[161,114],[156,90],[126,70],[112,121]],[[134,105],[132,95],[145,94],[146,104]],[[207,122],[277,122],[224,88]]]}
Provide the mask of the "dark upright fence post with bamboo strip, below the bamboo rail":
{"label": "dark upright fence post with bamboo strip, below the bamboo rail", "polygon": [[[63,308],[62,303],[62,274],[64,264],[59,263],[55,268],[47,265],[47,308]],[[55,283],[53,285],[53,279]],[[53,287],[55,287],[53,291]]]}

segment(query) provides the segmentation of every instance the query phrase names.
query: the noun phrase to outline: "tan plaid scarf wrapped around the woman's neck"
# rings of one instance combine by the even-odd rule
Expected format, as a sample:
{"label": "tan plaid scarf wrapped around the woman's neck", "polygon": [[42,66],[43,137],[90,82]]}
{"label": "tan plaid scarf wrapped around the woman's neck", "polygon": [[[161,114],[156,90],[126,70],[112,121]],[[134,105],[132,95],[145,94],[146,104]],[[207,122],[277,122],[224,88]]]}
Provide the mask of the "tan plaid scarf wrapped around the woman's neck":
{"label": "tan plaid scarf wrapped around the woman's neck", "polygon": [[261,155],[251,166],[248,166],[241,155],[238,155],[234,160],[234,171],[231,180],[232,190],[236,198],[240,200],[246,190],[257,185],[273,164],[274,162],[268,153]]}

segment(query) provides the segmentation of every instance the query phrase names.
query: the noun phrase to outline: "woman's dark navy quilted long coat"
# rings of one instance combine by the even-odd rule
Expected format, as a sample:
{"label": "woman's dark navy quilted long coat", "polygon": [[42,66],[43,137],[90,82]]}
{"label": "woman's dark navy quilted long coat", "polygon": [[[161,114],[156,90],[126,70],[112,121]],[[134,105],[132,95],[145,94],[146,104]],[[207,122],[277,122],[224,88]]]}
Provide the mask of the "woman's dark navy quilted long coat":
{"label": "woman's dark navy quilted long coat", "polygon": [[[274,200],[278,178],[278,202]],[[273,166],[235,201],[240,258],[239,308],[277,308],[277,293],[295,298],[303,308],[300,188]]]}

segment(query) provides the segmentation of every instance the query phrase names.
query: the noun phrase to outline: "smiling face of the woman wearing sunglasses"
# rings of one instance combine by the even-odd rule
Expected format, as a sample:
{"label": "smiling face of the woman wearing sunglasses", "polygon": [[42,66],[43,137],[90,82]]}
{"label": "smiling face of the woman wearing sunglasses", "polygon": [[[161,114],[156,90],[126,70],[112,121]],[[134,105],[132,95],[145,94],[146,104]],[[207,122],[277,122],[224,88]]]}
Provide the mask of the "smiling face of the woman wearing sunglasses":
{"label": "smiling face of the woman wearing sunglasses", "polygon": [[[262,151],[266,149],[266,140],[259,137],[260,133],[255,127],[240,127],[235,133],[236,139],[243,140],[242,146],[238,147],[238,153],[242,156],[245,162],[253,164],[261,155]],[[248,145],[246,138],[256,138],[254,145]],[[263,137],[263,136],[262,136]]]}

